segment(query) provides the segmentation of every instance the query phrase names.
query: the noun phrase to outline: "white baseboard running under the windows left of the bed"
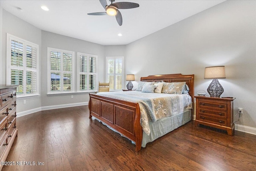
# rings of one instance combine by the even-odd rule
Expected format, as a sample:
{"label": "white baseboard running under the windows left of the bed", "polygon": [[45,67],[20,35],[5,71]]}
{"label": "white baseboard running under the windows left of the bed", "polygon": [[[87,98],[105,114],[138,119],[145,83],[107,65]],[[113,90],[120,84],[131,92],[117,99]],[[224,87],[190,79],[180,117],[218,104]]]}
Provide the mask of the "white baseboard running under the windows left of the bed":
{"label": "white baseboard running under the windows left of the bed", "polygon": [[28,114],[35,113],[35,112],[42,111],[42,110],[60,109],[60,108],[64,108],[64,107],[74,107],[74,106],[81,106],[81,105],[88,105],[88,102],[38,107],[38,108],[34,108],[34,109],[22,111],[22,112],[17,112],[17,117],[28,115]]}

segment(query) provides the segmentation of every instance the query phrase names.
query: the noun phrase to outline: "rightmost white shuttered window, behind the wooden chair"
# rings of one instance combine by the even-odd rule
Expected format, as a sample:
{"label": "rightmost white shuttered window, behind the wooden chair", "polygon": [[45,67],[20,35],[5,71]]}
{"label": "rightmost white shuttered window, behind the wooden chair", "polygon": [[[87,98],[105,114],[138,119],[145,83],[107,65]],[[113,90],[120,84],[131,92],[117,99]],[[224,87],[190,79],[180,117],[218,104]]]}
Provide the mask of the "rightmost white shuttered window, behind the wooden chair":
{"label": "rightmost white shuttered window, behind the wooden chair", "polygon": [[110,90],[121,90],[124,82],[124,57],[106,57],[106,79]]}

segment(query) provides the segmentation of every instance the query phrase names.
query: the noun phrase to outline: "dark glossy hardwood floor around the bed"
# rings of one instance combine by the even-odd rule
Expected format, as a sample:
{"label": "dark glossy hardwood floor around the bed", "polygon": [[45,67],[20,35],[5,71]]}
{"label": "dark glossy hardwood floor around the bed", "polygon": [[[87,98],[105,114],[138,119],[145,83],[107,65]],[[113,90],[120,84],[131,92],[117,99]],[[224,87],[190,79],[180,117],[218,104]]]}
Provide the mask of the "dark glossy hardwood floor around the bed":
{"label": "dark glossy hardwood floor around the bed", "polygon": [[2,170],[256,170],[256,135],[235,131],[231,137],[194,127],[191,121],[137,153],[131,141],[89,119],[88,112],[86,105],[18,117],[18,137],[6,161],[31,165],[5,165]]}

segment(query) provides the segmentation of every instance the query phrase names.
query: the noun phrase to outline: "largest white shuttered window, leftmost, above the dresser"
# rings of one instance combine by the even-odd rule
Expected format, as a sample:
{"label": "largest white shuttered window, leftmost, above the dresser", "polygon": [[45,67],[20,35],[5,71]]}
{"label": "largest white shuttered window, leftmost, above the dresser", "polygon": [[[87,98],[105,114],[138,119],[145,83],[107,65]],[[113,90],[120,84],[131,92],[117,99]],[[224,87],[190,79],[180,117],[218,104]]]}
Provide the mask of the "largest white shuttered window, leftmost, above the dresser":
{"label": "largest white shuttered window, leftmost, above the dresser", "polygon": [[6,45],[6,84],[18,84],[17,97],[38,95],[39,46],[10,34]]}

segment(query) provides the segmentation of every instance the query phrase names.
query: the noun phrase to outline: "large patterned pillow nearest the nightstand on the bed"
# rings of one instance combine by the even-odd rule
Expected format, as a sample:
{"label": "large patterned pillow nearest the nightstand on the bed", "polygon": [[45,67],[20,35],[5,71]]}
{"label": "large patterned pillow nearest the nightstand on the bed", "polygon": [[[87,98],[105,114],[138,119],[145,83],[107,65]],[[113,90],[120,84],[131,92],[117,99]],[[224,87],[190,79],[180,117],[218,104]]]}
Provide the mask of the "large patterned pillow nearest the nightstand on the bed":
{"label": "large patterned pillow nearest the nightstand on the bed", "polygon": [[163,83],[164,85],[162,88],[162,93],[168,93],[168,94],[182,94],[182,91],[186,84],[186,82],[172,82],[172,83],[163,82]]}

